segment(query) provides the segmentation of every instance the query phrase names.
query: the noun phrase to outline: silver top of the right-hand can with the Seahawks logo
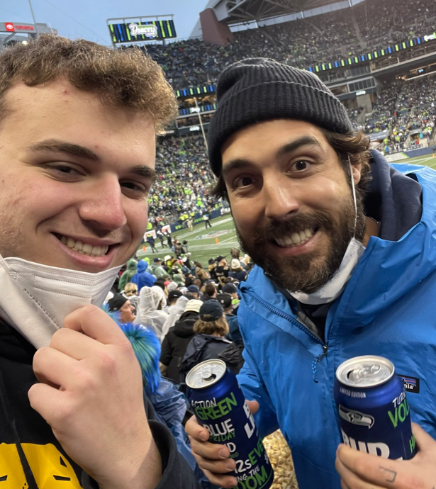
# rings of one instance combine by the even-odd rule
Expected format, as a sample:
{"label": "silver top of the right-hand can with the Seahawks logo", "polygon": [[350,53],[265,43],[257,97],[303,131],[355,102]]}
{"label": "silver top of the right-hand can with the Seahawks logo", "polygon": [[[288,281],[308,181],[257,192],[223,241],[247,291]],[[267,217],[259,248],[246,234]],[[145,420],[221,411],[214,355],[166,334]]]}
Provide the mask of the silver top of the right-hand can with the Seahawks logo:
{"label": "silver top of the right-hand can with the Seahawks logo", "polygon": [[393,363],[383,356],[354,356],[336,370],[340,383],[350,387],[376,387],[389,381],[395,372]]}

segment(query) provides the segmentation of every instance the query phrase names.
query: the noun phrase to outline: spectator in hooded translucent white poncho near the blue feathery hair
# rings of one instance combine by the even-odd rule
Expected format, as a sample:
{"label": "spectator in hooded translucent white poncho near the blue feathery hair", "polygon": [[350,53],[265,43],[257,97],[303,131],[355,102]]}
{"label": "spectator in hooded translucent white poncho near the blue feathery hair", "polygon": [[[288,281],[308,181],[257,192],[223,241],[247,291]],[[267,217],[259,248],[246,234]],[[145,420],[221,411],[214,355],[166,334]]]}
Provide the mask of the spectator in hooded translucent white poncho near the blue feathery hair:
{"label": "spectator in hooded translucent white poncho near the blue feathery hair", "polygon": [[157,286],[142,287],[139,294],[139,311],[135,320],[136,323],[152,327],[159,339],[162,335],[165,321],[169,317],[162,310],[164,299],[161,292],[164,293]]}

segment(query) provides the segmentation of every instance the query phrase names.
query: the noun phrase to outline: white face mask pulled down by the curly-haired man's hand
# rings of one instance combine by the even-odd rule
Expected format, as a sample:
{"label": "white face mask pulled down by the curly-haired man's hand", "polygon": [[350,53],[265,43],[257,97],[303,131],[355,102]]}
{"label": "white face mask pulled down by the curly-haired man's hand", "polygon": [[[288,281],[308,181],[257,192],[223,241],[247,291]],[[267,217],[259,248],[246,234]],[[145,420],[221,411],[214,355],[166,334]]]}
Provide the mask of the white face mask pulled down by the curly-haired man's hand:
{"label": "white face mask pulled down by the curly-haired man's hand", "polygon": [[47,347],[69,313],[104,303],[120,269],[90,274],[0,255],[0,317],[35,348]]}

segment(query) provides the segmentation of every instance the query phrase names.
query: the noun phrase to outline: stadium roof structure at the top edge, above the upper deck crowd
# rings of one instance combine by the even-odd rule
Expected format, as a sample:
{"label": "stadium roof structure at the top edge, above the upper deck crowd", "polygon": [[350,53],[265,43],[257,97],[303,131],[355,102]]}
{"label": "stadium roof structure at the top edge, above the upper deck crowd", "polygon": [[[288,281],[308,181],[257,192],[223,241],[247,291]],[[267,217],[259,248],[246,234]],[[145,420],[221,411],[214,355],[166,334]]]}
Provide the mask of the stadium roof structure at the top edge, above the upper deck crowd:
{"label": "stadium roof structure at the top edge, above the upper deck crowd", "polygon": [[335,3],[335,1],[337,0],[215,0],[210,1],[208,7],[218,10],[218,5],[225,3],[227,17],[218,20],[231,24],[259,21],[264,18],[316,9]]}

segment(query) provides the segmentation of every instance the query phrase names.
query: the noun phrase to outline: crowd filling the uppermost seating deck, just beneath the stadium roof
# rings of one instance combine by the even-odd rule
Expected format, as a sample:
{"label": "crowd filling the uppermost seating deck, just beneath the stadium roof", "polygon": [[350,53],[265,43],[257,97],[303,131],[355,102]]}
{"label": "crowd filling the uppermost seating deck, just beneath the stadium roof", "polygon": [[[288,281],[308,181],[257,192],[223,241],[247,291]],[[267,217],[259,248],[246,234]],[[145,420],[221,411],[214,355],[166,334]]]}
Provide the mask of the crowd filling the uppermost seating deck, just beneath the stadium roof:
{"label": "crowd filling the uppermost seating deck, just beneath the stadium roof", "polygon": [[174,89],[182,89],[215,83],[225,67],[246,57],[272,57],[307,68],[364,54],[427,34],[434,16],[434,2],[400,0],[381,6],[379,1],[365,0],[350,9],[236,32],[235,42],[225,47],[189,39],[149,44],[146,49],[161,64]]}

